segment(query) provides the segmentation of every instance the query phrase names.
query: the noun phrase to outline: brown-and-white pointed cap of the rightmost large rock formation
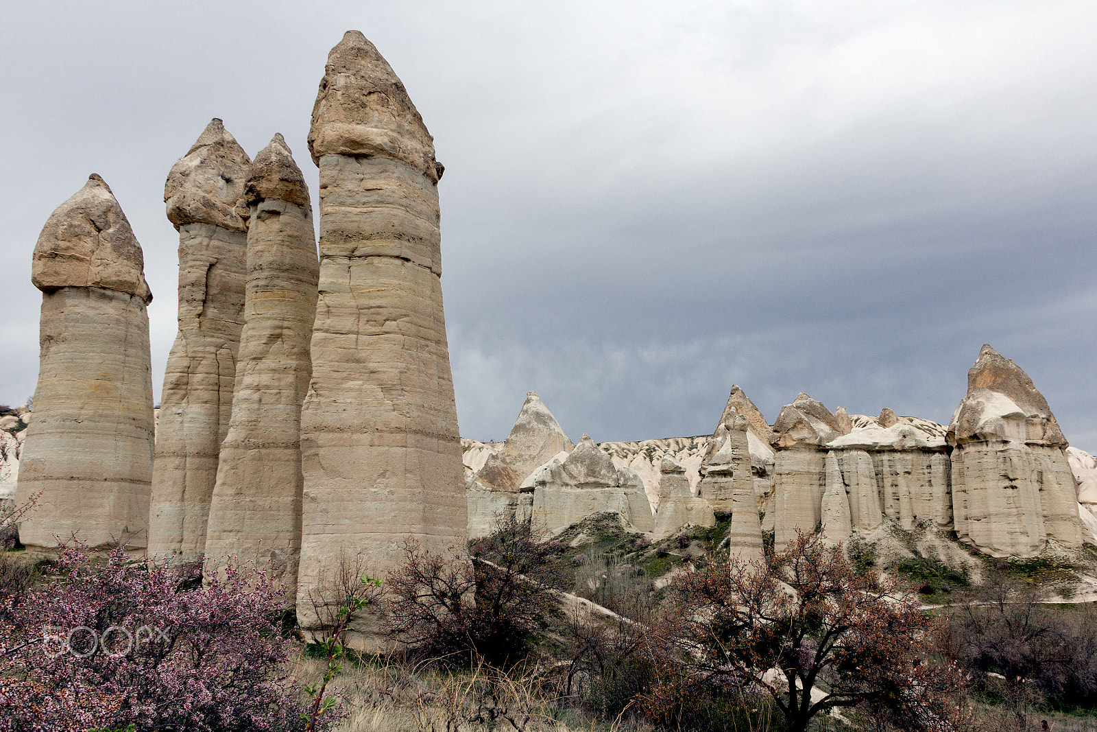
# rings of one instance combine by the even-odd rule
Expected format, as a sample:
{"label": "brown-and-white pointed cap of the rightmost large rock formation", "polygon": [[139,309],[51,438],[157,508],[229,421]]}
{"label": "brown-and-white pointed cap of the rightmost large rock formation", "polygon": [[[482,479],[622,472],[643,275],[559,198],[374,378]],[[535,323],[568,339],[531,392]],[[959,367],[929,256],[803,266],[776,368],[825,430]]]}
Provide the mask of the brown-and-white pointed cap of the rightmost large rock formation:
{"label": "brown-and-white pointed cap of the rightmost large rock formation", "polygon": [[984,345],[968,372],[968,394],[952,415],[950,444],[1015,440],[1067,447],[1048,401],[1029,375]]}

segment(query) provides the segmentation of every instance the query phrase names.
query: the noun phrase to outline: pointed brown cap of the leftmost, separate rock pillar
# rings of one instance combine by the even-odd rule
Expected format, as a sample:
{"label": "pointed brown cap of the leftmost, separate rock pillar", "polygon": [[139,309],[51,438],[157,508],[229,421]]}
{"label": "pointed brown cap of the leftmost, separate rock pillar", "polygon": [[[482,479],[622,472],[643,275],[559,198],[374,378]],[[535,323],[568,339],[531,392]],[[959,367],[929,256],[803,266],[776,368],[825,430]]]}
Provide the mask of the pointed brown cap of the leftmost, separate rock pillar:
{"label": "pointed brown cap of the leftmost, separate rock pillar", "polygon": [[46,219],[34,247],[31,282],[43,292],[103,288],[152,302],[145,256],[110,185],[91,173]]}

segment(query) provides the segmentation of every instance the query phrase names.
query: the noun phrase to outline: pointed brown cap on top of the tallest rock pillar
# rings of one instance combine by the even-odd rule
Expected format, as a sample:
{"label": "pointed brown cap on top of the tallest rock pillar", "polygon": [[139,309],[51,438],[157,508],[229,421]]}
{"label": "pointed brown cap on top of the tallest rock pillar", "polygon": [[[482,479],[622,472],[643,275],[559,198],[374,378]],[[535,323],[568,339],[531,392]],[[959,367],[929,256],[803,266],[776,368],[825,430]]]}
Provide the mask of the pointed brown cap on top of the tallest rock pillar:
{"label": "pointed brown cap on top of the tallest rock pillar", "polygon": [[325,155],[385,155],[436,183],[444,170],[404,82],[359,31],[347,31],[328,54],[308,150],[316,165]]}

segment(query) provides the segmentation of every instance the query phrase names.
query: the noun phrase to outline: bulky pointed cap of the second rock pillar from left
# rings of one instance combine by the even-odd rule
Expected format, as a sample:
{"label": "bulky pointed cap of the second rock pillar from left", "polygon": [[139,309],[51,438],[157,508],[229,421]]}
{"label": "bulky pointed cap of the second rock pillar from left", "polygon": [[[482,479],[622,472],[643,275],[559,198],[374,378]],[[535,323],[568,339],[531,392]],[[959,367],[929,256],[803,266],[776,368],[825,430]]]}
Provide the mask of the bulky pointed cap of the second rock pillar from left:
{"label": "bulky pointed cap of the second rock pillar from left", "polygon": [[163,184],[168,221],[180,226],[213,224],[236,232],[247,225],[236,211],[251,158],[216,117],[186,155],[171,167]]}

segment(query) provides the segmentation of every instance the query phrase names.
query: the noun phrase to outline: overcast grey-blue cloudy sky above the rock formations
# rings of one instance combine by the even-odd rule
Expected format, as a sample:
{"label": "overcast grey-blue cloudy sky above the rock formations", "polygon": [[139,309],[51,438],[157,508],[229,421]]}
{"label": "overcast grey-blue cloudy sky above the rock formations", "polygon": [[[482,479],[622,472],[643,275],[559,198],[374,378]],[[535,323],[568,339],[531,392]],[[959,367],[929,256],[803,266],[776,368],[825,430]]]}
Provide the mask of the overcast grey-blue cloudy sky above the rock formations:
{"label": "overcast grey-blue cloudy sky above the rock formations", "polygon": [[212,117],[305,138],[349,29],[445,165],[464,437],[536,391],[572,439],[772,421],[948,423],[984,342],[1097,452],[1097,3],[0,0],[0,403],[37,375],[31,254],[103,176],[145,252],[152,381],[176,335],[163,181]]}

